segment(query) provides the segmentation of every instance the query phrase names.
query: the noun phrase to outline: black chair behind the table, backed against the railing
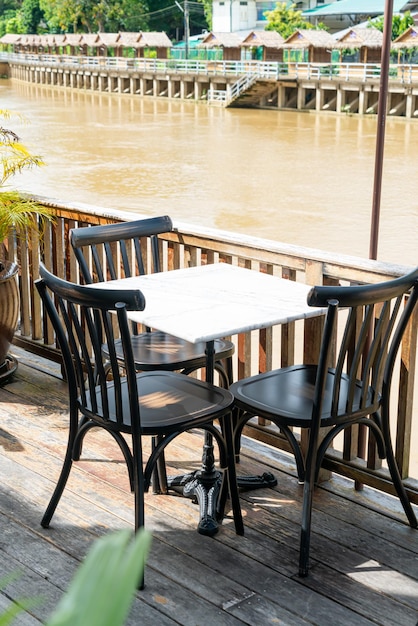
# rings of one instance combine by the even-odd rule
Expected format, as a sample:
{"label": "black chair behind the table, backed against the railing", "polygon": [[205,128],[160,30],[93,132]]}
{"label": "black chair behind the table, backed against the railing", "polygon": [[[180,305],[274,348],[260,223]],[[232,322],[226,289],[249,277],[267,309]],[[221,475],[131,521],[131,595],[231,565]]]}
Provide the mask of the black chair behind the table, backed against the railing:
{"label": "black chair behind the table, backed against the railing", "polygon": [[[171,219],[165,215],[133,222],[75,228],[70,241],[86,284],[115,280],[147,273],[147,258],[153,272],[161,271],[158,235],[173,230]],[[151,254],[147,246],[150,241]],[[138,333],[133,325],[132,348],[138,371],[169,370],[190,374],[206,364],[206,344],[191,344],[160,331]],[[234,344],[215,341],[215,369],[224,387],[232,381]],[[107,348],[105,348],[107,352]],[[116,354],[123,363],[120,342]],[[223,365],[225,361],[226,366]]]}

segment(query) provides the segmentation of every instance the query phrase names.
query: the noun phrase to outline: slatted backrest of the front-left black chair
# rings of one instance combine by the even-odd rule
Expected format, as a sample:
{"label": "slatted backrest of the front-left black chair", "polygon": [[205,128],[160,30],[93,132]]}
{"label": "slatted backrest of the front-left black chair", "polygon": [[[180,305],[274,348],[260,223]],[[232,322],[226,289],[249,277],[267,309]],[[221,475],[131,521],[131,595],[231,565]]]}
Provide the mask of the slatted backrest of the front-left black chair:
{"label": "slatted backrest of the front-left black chair", "polygon": [[[120,424],[126,423],[127,419],[130,421],[131,415],[124,414],[128,406],[122,398],[124,377],[128,377],[130,387],[136,385],[127,311],[144,309],[142,293],[138,290],[74,285],[54,276],[42,265],[40,275],[41,279],[36,281],[36,286],[63,355],[70,406],[79,406],[85,414],[93,412],[100,415],[104,421],[111,414]],[[59,314],[54,302],[57,303]],[[127,359],[124,372],[119,367],[114,350],[114,326]],[[103,338],[109,345],[112,373],[110,385],[109,370],[104,367]],[[137,396],[136,392],[134,396]],[[135,411],[139,429],[139,406]]]}

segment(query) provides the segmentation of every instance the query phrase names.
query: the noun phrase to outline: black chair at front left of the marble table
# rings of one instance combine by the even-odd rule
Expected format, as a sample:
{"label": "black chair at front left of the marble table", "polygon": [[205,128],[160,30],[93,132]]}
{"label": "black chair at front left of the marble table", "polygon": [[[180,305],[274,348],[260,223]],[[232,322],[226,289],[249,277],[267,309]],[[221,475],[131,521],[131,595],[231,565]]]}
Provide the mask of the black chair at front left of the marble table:
{"label": "black chair at front left of the marble table", "polygon": [[[79,459],[84,436],[90,429],[106,430],[124,455],[135,494],[137,530],[144,525],[144,493],[149,488],[159,455],[179,434],[200,428],[213,435],[219,448],[219,462],[224,468],[219,507],[223,509],[229,491],[235,529],[243,534],[233,450],[232,394],[175,372],[136,371],[127,311],[143,310],[144,297],[140,291],[75,285],[54,276],[44,266],[40,275],[36,287],[62,352],[70,409],[64,464],[42,526],[49,526],[73,460]],[[117,314],[123,369],[115,349],[112,311]],[[111,380],[104,363],[102,334],[109,346]],[[215,426],[214,420],[219,420],[221,428]],[[142,453],[144,435],[157,438],[157,445],[146,463]],[[217,515],[222,519],[224,511],[219,509]]]}

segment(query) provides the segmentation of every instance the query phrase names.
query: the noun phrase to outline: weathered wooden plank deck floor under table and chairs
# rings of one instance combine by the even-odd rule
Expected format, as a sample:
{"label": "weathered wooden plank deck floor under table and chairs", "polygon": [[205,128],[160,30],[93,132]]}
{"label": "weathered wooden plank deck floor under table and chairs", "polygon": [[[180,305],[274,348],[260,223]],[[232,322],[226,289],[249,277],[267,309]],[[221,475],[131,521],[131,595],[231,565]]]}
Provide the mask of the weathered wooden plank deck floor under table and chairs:
{"label": "weathered wooden plank deck floor under table and chairs", "polygon": [[[118,449],[91,433],[51,528],[41,528],[66,440],[66,389],[58,369],[51,376],[39,359],[16,354],[17,374],[0,388],[0,578],[15,570],[21,576],[1,591],[0,614],[11,598],[41,595],[40,606],[15,622],[32,626],[50,614],[93,540],[132,527],[133,511]],[[173,444],[171,472],[198,468],[200,445],[198,434]],[[146,588],[127,623],[416,626],[418,532],[403,523],[397,501],[355,493],[336,478],[317,489],[312,568],[300,579],[293,465],[267,447],[246,445],[239,473],[266,470],[278,486],[242,494],[244,537],[235,535],[231,518],[215,538],[203,537],[190,500],[147,495],[153,545]]]}

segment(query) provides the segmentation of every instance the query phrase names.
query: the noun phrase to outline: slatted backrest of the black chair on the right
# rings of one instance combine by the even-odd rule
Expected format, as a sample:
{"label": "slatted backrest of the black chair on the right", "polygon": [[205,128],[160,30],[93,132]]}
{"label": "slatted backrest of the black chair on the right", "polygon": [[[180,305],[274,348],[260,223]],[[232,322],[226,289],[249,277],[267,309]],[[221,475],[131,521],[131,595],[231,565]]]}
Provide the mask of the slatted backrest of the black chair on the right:
{"label": "slatted backrest of the black chair on the right", "polygon": [[[405,296],[408,303],[403,307]],[[311,290],[311,306],[328,305],[330,309],[337,301],[340,309],[348,310],[344,328],[334,331],[337,353],[329,401],[334,419],[351,413],[367,416],[380,410],[384,387],[390,387],[397,352],[417,299],[418,268],[376,285],[318,286]],[[321,352],[325,353],[328,341],[329,336],[324,335]],[[316,384],[318,389],[324,386],[320,375]],[[341,397],[346,400],[344,406]]]}

